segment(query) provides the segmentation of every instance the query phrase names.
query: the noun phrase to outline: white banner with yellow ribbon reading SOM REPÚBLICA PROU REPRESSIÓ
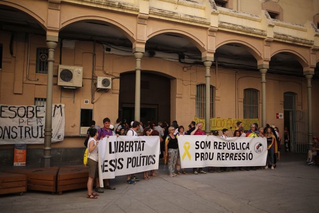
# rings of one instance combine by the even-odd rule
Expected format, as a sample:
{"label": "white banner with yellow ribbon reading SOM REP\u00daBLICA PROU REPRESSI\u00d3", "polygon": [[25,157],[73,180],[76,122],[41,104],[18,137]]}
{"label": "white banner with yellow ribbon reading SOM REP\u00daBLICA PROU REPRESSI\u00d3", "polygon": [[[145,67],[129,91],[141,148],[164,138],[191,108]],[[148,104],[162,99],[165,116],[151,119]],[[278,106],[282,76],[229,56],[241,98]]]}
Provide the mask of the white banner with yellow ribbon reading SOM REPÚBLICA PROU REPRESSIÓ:
{"label": "white banner with yellow ribbon reading SOM REP\u00daBLICA PROU REPRESSI\u00d3", "polygon": [[264,166],[267,140],[261,137],[182,135],[178,137],[182,168]]}

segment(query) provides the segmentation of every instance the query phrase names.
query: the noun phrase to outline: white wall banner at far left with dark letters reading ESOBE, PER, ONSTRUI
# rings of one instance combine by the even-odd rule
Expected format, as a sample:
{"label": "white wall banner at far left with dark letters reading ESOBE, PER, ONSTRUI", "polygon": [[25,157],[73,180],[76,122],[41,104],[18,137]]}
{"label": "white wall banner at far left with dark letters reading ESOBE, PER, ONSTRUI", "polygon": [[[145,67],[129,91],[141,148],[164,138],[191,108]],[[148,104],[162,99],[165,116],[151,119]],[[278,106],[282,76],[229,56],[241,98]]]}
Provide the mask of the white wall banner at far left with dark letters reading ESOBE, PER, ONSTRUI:
{"label": "white wall banner at far left with dark letters reading ESOBE, PER, ONSTRUI", "polygon": [[[0,105],[1,144],[43,144],[45,105]],[[64,138],[64,104],[52,105],[52,142]]]}

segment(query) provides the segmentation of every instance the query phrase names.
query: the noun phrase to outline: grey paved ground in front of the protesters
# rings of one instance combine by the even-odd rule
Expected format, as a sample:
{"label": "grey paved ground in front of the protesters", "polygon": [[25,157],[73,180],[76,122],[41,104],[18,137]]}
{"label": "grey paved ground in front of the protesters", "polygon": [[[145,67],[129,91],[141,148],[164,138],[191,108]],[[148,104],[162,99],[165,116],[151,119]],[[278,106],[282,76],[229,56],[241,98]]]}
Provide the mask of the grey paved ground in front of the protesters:
{"label": "grey paved ground in front of the protesters", "polygon": [[274,170],[197,175],[187,170],[176,177],[160,165],[160,176],[136,185],[116,177],[111,181],[116,190],[98,199],[87,199],[85,189],[2,195],[0,212],[318,212],[319,167],[305,166],[304,158],[286,154]]}

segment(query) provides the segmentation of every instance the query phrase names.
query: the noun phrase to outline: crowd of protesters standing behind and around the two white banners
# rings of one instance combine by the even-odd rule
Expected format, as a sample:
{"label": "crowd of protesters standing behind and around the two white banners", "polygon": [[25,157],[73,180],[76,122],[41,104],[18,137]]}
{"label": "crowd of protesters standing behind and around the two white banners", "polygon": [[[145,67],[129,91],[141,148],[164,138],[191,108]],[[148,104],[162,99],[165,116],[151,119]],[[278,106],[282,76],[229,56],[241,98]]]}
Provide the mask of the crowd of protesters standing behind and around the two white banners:
{"label": "crowd of protesters standing behind and around the two white banners", "polygon": [[[179,149],[178,149],[178,137],[180,135],[206,135],[207,133],[202,130],[202,123],[195,123],[191,121],[188,125],[188,130],[184,126],[178,125],[177,121],[173,121],[170,125],[168,122],[158,122],[157,125],[153,122],[146,122],[145,125],[142,122],[132,121],[130,125],[126,120],[117,119],[116,124],[111,125],[111,121],[108,118],[103,119],[103,127],[95,125],[95,122],[91,122],[91,127],[88,130],[88,166],[89,166],[89,180],[88,180],[88,198],[96,199],[98,193],[103,193],[103,189],[96,187],[93,191],[93,181],[97,177],[96,183],[98,182],[98,172],[97,172],[97,146],[99,139],[103,137],[108,137],[111,135],[131,135],[131,136],[140,136],[140,135],[158,135],[160,136],[161,143],[161,154],[160,158],[164,159],[165,164],[168,164],[169,176],[174,177],[180,174],[186,174],[185,169],[182,168],[179,159]],[[214,130],[212,132],[215,136],[220,136],[223,138],[227,137],[265,137],[267,140],[267,161],[264,167],[254,166],[254,167],[238,167],[240,171],[249,171],[256,169],[274,169],[276,167],[276,162],[280,160],[281,152],[281,134],[277,127],[274,125],[266,125],[266,127],[258,127],[258,124],[252,124],[250,130],[244,131],[243,123],[237,122],[234,132],[230,133],[228,129],[222,129],[221,134],[219,131]],[[284,140],[285,140],[285,151],[290,151],[290,136],[289,132],[285,128],[284,130]],[[314,152],[312,152],[314,153]],[[310,154],[309,154],[310,155]],[[208,167],[208,172],[224,172],[224,171],[235,171],[236,167]],[[177,171],[175,173],[175,171]],[[206,174],[205,168],[193,168],[193,174]],[[158,176],[155,170],[144,171],[143,179],[150,180],[150,176]],[[126,176],[126,181],[128,184],[135,184],[139,181],[138,177],[134,174]],[[104,189],[114,190],[115,188],[110,186],[109,180],[103,180]],[[98,185],[98,184],[97,184]]]}

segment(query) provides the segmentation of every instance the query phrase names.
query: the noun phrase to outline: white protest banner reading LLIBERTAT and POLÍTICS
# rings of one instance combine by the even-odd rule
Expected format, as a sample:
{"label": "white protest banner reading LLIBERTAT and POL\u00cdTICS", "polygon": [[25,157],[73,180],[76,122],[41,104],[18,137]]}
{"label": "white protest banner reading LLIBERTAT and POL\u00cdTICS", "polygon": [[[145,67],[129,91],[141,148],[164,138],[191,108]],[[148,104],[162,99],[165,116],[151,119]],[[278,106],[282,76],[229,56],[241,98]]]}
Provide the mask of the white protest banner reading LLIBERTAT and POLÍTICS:
{"label": "white protest banner reading LLIBERTAT and POL\u00cdTICS", "polygon": [[103,179],[158,169],[160,137],[109,136],[99,141]]}

